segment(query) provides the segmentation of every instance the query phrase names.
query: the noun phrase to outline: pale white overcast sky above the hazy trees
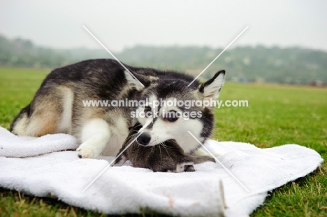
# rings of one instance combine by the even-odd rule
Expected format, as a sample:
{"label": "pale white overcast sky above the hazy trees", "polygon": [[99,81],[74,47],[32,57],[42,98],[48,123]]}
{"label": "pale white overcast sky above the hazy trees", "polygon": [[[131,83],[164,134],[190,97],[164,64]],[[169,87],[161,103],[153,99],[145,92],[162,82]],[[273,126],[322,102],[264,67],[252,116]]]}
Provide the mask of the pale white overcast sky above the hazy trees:
{"label": "pale white overcast sky above the hazy trees", "polygon": [[54,48],[279,45],[327,50],[327,1],[0,0],[0,33]]}

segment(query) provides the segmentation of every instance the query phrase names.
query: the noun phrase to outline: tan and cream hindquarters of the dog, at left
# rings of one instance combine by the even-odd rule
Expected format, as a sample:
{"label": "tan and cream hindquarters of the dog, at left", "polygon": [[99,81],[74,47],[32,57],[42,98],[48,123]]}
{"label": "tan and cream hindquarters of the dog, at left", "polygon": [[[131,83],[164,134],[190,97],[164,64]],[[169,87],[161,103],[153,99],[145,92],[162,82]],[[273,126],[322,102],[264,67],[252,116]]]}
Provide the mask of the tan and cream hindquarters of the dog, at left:
{"label": "tan and cream hindquarters of the dog, at left", "polygon": [[17,115],[10,131],[38,137],[50,133],[71,133],[73,91],[68,87],[39,89],[31,104]]}

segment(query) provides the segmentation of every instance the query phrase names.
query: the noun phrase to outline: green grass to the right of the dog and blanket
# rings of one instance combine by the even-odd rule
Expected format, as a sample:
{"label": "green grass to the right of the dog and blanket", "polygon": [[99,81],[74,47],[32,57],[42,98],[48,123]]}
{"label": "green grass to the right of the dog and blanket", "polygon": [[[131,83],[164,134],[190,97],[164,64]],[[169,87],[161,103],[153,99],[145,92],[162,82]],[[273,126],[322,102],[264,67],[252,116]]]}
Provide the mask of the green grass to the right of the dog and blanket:
{"label": "green grass to the right of the dog and blanket", "polygon": [[[327,89],[273,84],[227,84],[222,100],[248,100],[249,107],[216,111],[214,137],[268,148],[310,147],[327,159]],[[307,177],[274,190],[252,216],[327,216],[327,163]]]}

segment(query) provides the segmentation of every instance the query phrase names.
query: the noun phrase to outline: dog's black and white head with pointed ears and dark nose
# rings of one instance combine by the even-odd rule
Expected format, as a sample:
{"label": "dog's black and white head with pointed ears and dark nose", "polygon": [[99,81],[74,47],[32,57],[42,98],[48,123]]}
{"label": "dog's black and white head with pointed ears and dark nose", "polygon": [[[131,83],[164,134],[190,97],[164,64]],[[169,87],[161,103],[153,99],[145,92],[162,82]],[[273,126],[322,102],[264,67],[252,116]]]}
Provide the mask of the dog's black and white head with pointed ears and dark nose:
{"label": "dog's black and white head with pointed ears and dark nose", "polygon": [[[214,126],[213,102],[217,100],[224,84],[225,71],[216,73],[210,80],[200,84],[197,81],[187,87],[193,78],[188,75],[171,73],[165,76],[151,76],[152,82],[145,81],[143,87],[126,73],[128,82],[142,91],[138,98],[138,107],[131,116],[136,118],[143,128],[138,143],[154,146],[166,140],[176,140],[186,153],[200,146],[200,142],[210,136]],[[190,133],[189,133],[190,132]]]}

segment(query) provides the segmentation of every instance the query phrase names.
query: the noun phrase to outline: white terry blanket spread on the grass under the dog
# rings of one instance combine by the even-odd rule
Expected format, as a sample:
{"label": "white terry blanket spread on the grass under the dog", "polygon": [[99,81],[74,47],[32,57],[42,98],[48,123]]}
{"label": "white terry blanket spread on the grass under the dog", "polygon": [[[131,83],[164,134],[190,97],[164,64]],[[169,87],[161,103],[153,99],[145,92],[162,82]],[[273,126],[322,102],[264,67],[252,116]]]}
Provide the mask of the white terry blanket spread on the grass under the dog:
{"label": "white terry blanket spread on the grass under the dog", "polygon": [[[55,196],[68,204],[106,214],[140,213],[140,209],[178,216],[248,216],[268,191],[314,171],[323,159],[296,144],[259,149],[241,142],[208,140],[223,154],[219,163],[195,165],[196,172],[163,173],[130,165],[109,167],[113,157],[80,159],[70,135],[17,137],[0,128],[0,186],[36,196]],[[226,209],[219,181],[224,184]]]}

